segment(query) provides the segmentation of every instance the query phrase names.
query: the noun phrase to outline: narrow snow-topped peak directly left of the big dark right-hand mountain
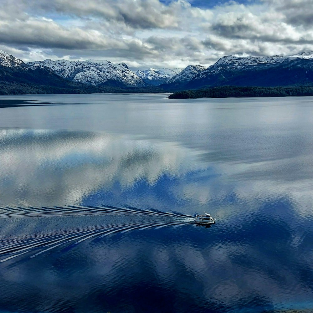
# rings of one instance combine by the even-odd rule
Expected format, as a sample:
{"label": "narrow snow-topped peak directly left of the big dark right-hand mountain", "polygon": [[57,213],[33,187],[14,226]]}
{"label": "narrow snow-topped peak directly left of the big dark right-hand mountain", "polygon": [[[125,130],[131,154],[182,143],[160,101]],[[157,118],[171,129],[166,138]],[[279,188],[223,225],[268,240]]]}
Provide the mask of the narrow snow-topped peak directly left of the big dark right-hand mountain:
{"label": "narrow snow-topped peak directly left of the big dark right-hand mountain", "polygon": [[167,80],[164,84],[160,85],[161,88],[171,90],[180,87],[181,85],[189,82],[198,73],[207,69],[206,66],[198,65],[188,65],[180,73],[173,76],[171,79]]}

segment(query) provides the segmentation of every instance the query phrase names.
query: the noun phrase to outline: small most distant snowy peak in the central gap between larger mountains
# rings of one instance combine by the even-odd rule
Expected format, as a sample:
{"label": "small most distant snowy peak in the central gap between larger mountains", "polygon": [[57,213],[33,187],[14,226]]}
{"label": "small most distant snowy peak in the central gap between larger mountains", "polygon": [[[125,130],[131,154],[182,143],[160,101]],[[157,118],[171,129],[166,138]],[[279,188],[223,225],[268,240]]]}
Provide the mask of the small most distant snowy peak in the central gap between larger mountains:
{"label": "small most distant snowy peak in the central gap between larger mountains", "polygon": [[135,74],[146,84],[157,86],[163,84],[181,71],[181,69],[155,69],[151,67],[151,69],[146,69],[145,71],[138,70]]}

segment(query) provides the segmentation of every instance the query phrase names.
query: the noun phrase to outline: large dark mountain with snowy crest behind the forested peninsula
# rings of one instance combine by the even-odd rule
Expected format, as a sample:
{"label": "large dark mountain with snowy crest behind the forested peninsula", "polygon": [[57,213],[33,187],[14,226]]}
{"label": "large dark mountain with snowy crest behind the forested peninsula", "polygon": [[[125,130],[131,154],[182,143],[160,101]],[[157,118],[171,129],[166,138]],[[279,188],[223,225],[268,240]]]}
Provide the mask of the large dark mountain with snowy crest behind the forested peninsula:
{"label": "large dark mountain with snowy crest behind the forested peninsula", "polygon": [[313,52],[271,57],[228,55],[178,88],[199,89],[225,85],[269,87],[305,84],[313,84]]}

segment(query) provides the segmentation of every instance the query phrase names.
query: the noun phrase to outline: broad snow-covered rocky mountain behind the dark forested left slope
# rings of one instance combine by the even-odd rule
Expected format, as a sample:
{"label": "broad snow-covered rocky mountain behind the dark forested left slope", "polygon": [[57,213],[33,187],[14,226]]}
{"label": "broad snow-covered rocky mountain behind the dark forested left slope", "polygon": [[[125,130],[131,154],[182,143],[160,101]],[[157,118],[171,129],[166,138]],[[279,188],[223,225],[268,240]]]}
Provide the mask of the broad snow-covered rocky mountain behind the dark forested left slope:
{"label": "broad snow-covered rocky mountain behind the dark forested left slope", "polygon": [[110,61],[86,60],[44,60],[28,62],[29,66],[44,66],[67,80],[94,85],[94,86],[118,86],[118,87],[143,87],[146,84],[133,73],[125,63],[114,64]]}

